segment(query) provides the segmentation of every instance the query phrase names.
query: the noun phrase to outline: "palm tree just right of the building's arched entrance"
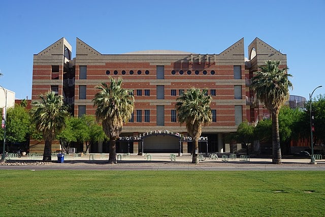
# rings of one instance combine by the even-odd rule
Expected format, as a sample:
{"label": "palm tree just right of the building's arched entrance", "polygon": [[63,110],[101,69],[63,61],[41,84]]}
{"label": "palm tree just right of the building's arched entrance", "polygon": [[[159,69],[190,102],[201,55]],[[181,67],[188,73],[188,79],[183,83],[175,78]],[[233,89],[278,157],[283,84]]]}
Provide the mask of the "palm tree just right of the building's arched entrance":
{"label": "palm tree just right of the building's arched entrance", "polygon": [[192,163],[199,163],[199,138],[202,126],[209,125],[212,120],[211,96],[207,89],[200,90],[192,87],[184,92],[176,102],[177,117],[180,124],[186,122],[188,135],[192,138]]}

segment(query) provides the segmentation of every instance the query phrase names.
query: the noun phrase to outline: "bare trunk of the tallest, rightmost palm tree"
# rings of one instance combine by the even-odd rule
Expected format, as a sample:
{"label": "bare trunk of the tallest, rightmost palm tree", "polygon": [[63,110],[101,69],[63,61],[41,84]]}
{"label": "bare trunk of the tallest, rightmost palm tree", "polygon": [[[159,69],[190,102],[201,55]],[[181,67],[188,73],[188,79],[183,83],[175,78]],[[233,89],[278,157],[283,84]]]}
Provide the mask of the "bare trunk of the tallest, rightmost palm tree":
{"label": "bare trunk of the tallest, rightmost palm tree", "polygon": [[279,112],[272,114],[272,164],[281,164],[281,147],[279,135]]}

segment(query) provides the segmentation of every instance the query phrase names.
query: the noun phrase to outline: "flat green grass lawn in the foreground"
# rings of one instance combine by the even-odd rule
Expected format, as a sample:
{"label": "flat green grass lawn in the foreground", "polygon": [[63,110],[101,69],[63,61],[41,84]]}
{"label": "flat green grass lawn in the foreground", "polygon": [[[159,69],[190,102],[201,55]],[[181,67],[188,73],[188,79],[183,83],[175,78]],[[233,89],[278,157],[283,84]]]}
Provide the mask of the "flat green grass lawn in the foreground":
{"label": "flat green grass lawn in the foreground", "polygon": [[325,216],[324,175],[0,170],[0,215]]}

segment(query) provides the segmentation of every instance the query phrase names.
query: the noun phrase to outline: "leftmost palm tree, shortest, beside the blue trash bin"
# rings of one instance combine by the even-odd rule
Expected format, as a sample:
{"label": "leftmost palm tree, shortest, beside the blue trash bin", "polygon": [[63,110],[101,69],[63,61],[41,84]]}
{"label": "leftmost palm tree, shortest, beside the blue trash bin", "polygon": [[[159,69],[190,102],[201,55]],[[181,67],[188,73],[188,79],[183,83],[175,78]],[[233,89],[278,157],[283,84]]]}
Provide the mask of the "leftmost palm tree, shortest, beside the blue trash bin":
{"label": "leftmost palm tree, shortest, beside the blue trash bin", "polygon": [[31,119],[45,141],[43,161],[51,161],[52,141],[66,125],[64,119],[69,116],[69,106],[62,105],[63,97],[51,91],[40,95],[40,99],[31,103]]}

